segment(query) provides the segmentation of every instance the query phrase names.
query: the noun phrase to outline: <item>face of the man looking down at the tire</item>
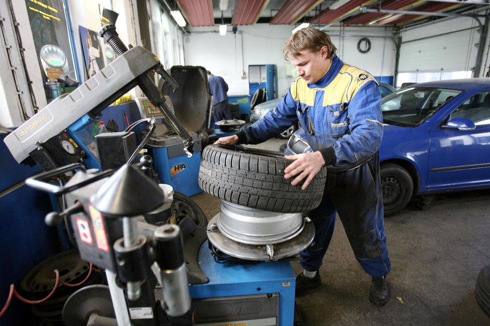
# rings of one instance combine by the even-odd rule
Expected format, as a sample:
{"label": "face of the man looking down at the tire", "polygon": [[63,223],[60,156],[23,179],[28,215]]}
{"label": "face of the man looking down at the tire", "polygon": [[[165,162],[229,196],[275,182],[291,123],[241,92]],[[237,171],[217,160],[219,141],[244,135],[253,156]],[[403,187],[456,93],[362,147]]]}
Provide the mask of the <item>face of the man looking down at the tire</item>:
{"label": "face of the man looking down at the tire", "polygon": [[300,51],[299,55],[290,56],[289,59],[296,67],[298,76],[311,84],[320,80],[327,71],[330,65],[330,59],[327,59],[327,55],[327,46],[323,46],[318,52],[305,49]]}

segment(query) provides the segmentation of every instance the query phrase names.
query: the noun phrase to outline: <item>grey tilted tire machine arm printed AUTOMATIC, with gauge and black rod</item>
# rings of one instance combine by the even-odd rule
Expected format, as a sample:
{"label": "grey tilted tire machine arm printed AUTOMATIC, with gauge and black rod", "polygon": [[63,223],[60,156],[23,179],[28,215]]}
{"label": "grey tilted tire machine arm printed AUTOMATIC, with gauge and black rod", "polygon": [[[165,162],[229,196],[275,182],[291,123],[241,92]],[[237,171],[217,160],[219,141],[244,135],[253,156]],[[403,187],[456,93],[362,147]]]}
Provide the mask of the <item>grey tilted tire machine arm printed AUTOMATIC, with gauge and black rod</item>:
{"label": "grey tilted tire machine arm printed AUTOMATIC, with gauge and black rod", "polygon": [[[184,151],[190,157],[194,141],[169,109],[150,75],[160,74],[173,90],[177,89],[177,82],[165,71],[155,54],[141,46],[128,49],[114,25],[104,26],[100,35],[111,44],[118,57],[71,93],[57,97],[5,137],[14,158],[22,163],[31,156],[45,170],[80,161],[86,161],[91,168],[100,167],[97,150],[91,150],[96,145],[84,144],[72,130],[84,129],[101,115],[102,110],[135,86],[139,86],[151,103],[160,109],[182,138]],[[91,136],[89,138],[94,142]]]}

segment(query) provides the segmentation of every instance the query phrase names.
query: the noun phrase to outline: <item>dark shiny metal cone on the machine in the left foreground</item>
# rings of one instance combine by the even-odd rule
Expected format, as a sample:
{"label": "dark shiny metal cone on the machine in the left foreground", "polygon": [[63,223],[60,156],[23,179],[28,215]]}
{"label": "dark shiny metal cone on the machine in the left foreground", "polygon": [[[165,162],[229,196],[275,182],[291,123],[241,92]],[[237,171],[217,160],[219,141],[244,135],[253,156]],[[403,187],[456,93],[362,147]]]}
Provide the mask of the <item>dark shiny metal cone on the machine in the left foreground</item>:
{"label": "dark shiny metal cone on the machine in the left foreground", "polygon": [[163,204],[162,189],[132,165],[125,164],[91,198],[102,213],[135,216],[150,212]]}

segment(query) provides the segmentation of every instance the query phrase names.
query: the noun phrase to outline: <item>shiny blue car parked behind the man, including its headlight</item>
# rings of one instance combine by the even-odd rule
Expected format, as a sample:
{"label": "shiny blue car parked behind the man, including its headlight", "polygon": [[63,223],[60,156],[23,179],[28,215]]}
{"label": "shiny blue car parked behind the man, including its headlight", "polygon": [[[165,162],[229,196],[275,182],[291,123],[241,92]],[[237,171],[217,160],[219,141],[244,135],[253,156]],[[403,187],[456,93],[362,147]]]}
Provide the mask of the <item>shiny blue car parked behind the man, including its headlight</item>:
{"label": "shiny blue car parked behind the man, including its headlight", "polygon": [[[412,195],[490,188],[490,78],[417,83],[381,102],[386,216]],[[302,132],[286,151],[311,151]]]}

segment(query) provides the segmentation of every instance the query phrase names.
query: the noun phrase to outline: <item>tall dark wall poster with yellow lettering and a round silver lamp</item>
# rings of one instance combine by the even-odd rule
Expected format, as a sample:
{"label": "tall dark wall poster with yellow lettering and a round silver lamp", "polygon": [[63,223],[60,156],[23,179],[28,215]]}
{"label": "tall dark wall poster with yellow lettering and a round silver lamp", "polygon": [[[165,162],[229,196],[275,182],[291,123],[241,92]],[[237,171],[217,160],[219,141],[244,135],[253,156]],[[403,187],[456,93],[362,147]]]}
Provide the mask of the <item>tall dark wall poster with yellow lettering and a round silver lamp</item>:
{"label": "tall dark wall poster with yellow lettering and a round silver lamp", "polygon": [[50,79],[76,79],[63,0],[26,0],[26,6],[43,81],[50,69],[61,73]]}

